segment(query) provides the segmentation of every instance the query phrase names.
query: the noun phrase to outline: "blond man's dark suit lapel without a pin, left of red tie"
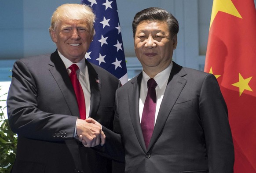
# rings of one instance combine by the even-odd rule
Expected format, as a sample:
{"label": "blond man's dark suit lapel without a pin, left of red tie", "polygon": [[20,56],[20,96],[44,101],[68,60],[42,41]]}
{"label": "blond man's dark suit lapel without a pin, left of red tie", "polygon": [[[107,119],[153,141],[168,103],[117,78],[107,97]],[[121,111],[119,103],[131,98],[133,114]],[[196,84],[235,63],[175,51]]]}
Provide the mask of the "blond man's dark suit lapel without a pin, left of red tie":
{"label": "blond man's dark suit lapel without a pin, left of red tie", "polygon": [[49,62],[49,71],[58,84],[62,94],[65,98],[67,106],[73,116],[79,116],[79,109],[77,105],[77,98],[73,90],[72,83],[69,79],[66,67],[59,57],[57,50],[51,54],[51,61]]}

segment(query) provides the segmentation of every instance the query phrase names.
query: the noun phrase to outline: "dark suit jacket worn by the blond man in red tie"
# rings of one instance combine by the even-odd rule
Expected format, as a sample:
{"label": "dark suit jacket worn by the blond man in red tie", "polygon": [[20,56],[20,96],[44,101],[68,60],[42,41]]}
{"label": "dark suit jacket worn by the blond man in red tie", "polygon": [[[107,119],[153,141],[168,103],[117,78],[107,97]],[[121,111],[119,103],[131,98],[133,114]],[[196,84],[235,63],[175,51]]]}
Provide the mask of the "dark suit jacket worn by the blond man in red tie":
{"label": "dark suit jacket worn by the blond man in red tie", "polygon": [[[112,129],[115,91],[121,83],[106,70],[86,64],[91,86],[89,116]],[[13,173],[111,171],[110,160],[73,138],[79,109],[57,50],[15,62],[7,112],[11,129],[18,134]]]}

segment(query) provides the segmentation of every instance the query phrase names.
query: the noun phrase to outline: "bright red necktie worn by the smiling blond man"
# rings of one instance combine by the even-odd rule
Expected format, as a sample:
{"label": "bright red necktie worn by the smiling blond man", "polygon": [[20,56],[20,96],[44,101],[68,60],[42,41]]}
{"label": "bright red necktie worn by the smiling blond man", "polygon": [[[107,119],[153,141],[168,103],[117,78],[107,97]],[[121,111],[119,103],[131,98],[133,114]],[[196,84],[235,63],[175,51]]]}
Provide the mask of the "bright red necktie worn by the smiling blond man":
{"label": "bright red necktie worn by the smiling blond man", "polygon": [[80,112],[80,119],[86,119],[84,92],[79,80],[77,79],[76,71],[78,69],[78,66],[76,64],[73,64],[69,67],[69,69],[71,70],[69,78],[71,80],[71,83],[73,85],[73,88],[75,90],[75,94],[77,97],[77,104]]}

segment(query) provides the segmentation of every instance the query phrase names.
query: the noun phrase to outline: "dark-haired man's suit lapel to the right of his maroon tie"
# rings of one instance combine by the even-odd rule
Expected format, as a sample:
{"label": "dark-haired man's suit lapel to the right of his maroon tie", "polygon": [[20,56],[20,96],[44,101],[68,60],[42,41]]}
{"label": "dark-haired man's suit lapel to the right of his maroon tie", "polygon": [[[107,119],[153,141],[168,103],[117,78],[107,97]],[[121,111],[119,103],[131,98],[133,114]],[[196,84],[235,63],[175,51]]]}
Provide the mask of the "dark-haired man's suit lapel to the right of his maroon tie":
{"label": "dark-haired man's suit lapel to the right of his maroon tie", "polygon": [[165,126],[166,120],[172,111],[173,105],[176,103],[179,94],[183,90],[187,83],[187,80],[183,78],[186,75],[184,69],[173,62],[172,71],[170,73],[168,83],[165,89],[165,94],[160,105],[160,110],[157,115],[157,121],[154,127],[154,131],[150,140],[149,148],[155,143],[163,127]]}

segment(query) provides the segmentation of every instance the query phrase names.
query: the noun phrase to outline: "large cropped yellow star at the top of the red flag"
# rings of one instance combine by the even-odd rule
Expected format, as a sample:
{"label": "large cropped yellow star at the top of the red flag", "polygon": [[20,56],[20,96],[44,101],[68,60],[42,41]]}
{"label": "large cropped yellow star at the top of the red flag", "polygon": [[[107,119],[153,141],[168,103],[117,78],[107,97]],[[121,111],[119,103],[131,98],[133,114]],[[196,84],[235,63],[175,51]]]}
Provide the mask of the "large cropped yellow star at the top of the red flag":
{"label": "large cropped yellow star at the top of the red flag", "polygon": [[213,22],[214,18],[216,17],[216,15],[219,11],[234,15],[238,18],[242,18],[231,0],[213,0],[210,28],[212,26],[212,22]]}

